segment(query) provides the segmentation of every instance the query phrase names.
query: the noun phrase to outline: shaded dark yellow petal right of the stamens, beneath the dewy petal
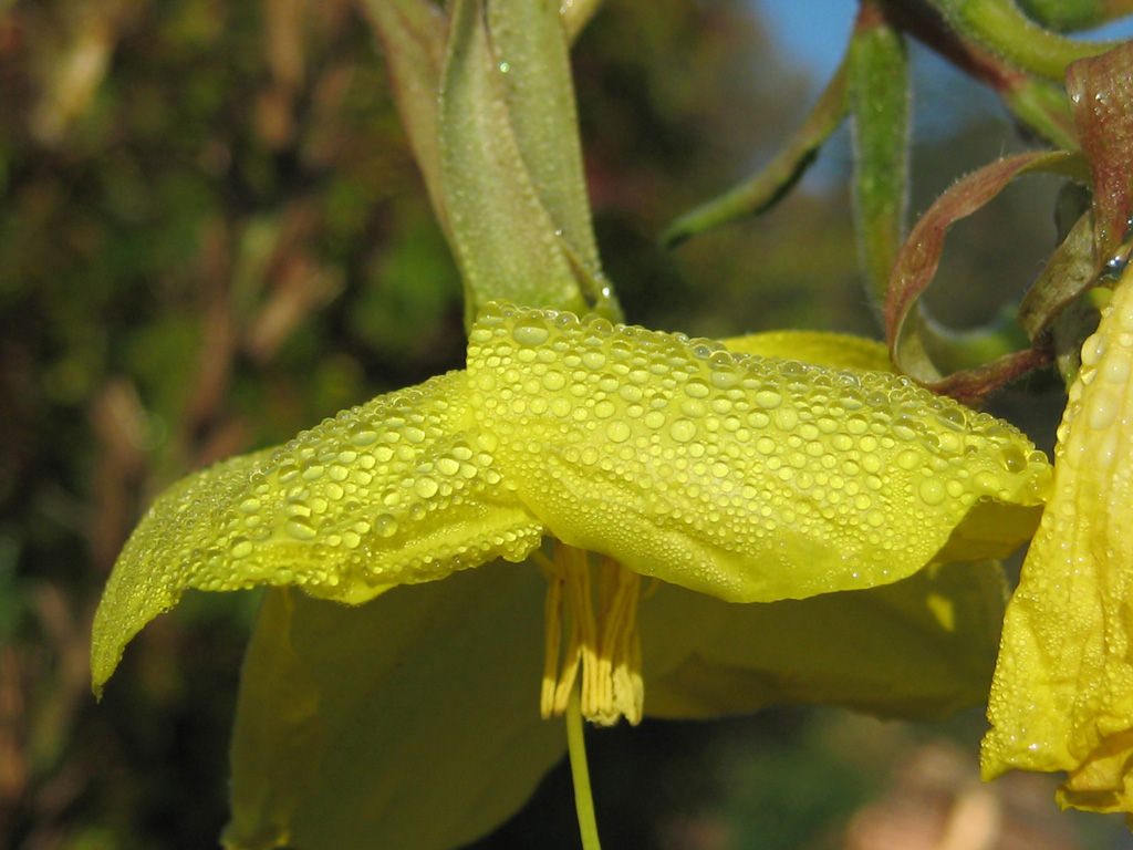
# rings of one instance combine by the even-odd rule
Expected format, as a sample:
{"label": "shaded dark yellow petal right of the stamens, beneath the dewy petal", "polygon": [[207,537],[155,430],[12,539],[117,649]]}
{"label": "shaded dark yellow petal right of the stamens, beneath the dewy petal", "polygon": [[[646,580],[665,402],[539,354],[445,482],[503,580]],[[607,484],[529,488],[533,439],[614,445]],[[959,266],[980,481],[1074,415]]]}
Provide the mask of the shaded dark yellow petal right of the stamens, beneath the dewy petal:
{"label": "shaded dark yellow petal right of the stamens, beneath the dewy petal", "polygon": [[640,613],[646,713],[709,717],[804,703],[947,717],[987,698],[1005,601],[994,561],[765,605],[658,583]]}

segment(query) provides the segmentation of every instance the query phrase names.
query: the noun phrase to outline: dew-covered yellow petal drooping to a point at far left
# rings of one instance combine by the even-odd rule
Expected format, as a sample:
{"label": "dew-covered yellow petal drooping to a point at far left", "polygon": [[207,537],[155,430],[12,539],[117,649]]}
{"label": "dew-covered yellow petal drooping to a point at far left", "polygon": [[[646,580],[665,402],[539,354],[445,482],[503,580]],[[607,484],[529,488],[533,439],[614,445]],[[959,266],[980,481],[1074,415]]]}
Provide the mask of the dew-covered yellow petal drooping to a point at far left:
{"label": "dew-covered yellow petal drooping to a point at far left", "polygon": [[468,428],[463,372],[381,396],[287,445],[188,476],[150,509],[94,621],[94,686],[187,587],[298,585],[357,604],[496,556],[522,560],[543,525],[501,486]]}

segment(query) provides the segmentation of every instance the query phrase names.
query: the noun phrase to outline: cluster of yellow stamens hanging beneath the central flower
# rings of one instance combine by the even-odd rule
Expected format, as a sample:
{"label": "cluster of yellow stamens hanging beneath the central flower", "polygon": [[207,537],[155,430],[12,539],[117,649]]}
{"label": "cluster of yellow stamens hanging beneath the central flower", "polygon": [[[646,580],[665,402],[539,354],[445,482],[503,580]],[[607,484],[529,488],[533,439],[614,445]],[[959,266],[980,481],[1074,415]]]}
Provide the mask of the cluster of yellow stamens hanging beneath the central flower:
{"label": "cluster of yellow stamens hanging beneath the central flower", "polygon": [[554,562],[547,564],[547,643],[539,711],[544,717],[561,716],[581,670],[582,716],[603,726],[622,717],[637,725],[645,702],[637,623],[641,577],[612,558],[600,558],[595,594],[587,552],[555,544]]}

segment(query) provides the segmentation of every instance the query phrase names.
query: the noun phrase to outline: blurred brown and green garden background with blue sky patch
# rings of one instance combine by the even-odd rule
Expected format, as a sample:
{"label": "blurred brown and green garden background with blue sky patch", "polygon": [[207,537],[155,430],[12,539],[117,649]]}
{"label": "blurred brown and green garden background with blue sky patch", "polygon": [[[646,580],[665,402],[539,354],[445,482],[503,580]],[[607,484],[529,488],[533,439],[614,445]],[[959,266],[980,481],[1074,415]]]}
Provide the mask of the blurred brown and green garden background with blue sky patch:
{"label": "blurred brown and green garden background with blue sky patch", "polygon": [[[878,334],[844,133],[772,214],[657,244],[772,155],[853,12],[608,0],[589,25],[586,168],[630,321]],[[1022,143],[994,99],[913,59],[919,213]],[[1017,295],[1056,189],[1020,185],[956,228],[938,315],[976,323]],[[189,594],[96,705],[88,628],[122,542],[187,470],[463,356],[455,266],[353,5],[0,0],[0,847],[215,847],[256,595]],[[1049,445],[1060,396],[1024,390],[999,405]],[[599,824],[611,850],[1133,848],[1118,819],[1057,813],[1047,777],[981,785],[982,730],[976,709],[928,726],[782,708],[598,731]],[[476,847],[577,845],[561,766]]]}

